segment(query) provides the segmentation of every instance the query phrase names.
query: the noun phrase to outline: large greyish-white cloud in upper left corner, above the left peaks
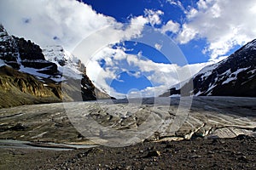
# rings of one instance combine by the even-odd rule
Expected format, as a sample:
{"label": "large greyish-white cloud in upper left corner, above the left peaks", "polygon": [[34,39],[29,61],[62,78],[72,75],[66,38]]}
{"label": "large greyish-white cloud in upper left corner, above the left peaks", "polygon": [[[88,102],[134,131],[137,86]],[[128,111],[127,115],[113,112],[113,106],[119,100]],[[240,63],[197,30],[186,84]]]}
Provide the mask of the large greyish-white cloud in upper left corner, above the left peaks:
{"label": "large greyish-white cloud in upper left corner, above the left peaks", "polygon": [[0,1],[0,22],[11,34],[42,46],[58,43],[70,50],[83,37],[116,21],[78,1],[9,0]]}

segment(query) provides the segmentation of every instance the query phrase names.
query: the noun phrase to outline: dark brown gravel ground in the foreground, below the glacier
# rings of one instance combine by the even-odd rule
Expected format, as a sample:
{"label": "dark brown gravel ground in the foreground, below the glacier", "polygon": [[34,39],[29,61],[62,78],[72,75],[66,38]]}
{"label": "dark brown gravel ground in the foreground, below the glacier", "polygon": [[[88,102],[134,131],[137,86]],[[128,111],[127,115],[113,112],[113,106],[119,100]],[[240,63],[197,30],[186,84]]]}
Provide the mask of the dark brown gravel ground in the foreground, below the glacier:
{"label": "dark brown gravel ground in the foreground, below the glacier", "polygon": [[191,139],[66,151],[0,148],[0,169],[256,169],[256,139]]}

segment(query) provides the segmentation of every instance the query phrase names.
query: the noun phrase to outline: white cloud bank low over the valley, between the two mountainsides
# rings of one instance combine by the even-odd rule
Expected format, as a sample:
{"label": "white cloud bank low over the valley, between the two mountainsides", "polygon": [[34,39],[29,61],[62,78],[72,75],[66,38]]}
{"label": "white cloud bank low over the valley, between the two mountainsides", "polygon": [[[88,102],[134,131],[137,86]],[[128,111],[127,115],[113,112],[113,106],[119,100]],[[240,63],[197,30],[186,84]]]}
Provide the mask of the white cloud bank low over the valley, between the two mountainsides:
{"label": "white cloud bank low over the valley, between the two mountainsides", "polygon": [[[119,74],[126,72],[131,77],[146,77],[153,87],[147,87],[136,93],[143,97],[158,96],[163,94],[166,89],[171,86],[189,79],[195,75],[201,68],[209,63],[201,63],[194,65],[164,64],[155,63],[154,61],[143,56],[140,52],[138,54],[126,54],[125,48],[102,48],[95,55],[95,59],[88,65],[88,69],[95,69],[94,65],[98,65],[97,71],[89,73],[90,78],[96,82],[96,85],[101,84],[107,90],[112,90],[110,83],[106,80],[119,80]],[[104,59],[105,65],[101,68],[99,62]],[[94,63],[94,64],[93,64]],[[90,75],[91,74],[91,75]],[[127,82],[131,83],[131,82]]]}

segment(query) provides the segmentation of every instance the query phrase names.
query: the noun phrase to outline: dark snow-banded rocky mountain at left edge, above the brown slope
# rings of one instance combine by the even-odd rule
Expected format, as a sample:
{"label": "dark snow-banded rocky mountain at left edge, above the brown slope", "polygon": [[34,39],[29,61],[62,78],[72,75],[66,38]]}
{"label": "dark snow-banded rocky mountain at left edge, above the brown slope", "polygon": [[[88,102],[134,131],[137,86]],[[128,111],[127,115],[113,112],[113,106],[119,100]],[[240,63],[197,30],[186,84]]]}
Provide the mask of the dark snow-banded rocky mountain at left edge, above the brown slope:
{"label": "dark snow-banded rocky mountain at left edge, above the brown slope", "polygon": [[38,78],[61,81],[61,72],[57,70],[57,65],[44,58],[42,49],[37,44],[24,38],[10,36],[1,25],[0,63]]}

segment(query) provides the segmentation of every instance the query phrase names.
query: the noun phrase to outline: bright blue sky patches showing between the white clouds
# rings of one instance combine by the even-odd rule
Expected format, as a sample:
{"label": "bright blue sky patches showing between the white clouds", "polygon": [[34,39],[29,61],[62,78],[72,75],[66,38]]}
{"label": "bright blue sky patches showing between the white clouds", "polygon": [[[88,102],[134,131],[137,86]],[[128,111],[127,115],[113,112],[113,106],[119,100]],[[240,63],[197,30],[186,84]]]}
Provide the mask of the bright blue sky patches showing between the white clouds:
{"label": "bright blue sky patches showing between the white clouds", "polygon": [[[164,14],[161,15],[162,24],[155,27],[160,28],[164,26],[169,20],[174,20],[182,24],[185,20],[185,14],[177,5],[170,5],[167,1],[148,1],[148,0],[125,0],[125,1],[102,1],[102,0],[83,0],[84,3],[90,4],[94,10],[98,13],[112,16],[115,20],[119,22],[129,22],[131,17],[136,17],[145,14],[145,9],[160,10]],[[188,8],[193,5],[195,1],[183,1],[183,7]],[[172,32],[168,32],[172,35]],[[170,36],[171,37],[171,36]],[[183,54],[190,56],[186,58],[189,64],[207,62],[209,56],[202,54],[201,51],[204,48],[206,41],[197,40],[190,42],[188,44],[180,45],[179,48],[183,51]],[[125,48],[132,50],[127,50],[127,54],[138,54],[142,51],[143,56],[147,59],[153,60],[155,63],[165,63],[171,64],[171,62],[166,59],[165,55],[161,54],[155,48],[145,48],[142,43],[133,45],[134,42],[126,42]],[[154,85],[148,81],[147,77],[133,77],[127,72],[122,72],[119,75],[119,80],[109,80],[109,84],[118,93],[128,94],[132,88],[137,88],[138,90],[143,90],[147,87],[154,87]]]}

